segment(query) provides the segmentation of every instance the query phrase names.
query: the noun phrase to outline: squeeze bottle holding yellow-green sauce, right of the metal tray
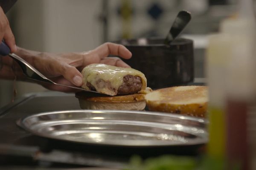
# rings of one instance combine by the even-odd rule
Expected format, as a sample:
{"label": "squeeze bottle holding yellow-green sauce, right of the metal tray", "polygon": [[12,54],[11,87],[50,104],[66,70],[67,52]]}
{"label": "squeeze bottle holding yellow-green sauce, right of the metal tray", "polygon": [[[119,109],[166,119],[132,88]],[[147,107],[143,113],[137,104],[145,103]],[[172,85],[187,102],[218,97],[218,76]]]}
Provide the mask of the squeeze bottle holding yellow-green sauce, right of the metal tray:
{"label": "squeeze bottle holding yellow-green sauce, right of the metal tray", "polygon": [[209,143],[207,153],[214,161],[225,155],[225,73],[230,56],[229,37],[222,33],[211,35],[207,48],[207,78],[209,86]]}

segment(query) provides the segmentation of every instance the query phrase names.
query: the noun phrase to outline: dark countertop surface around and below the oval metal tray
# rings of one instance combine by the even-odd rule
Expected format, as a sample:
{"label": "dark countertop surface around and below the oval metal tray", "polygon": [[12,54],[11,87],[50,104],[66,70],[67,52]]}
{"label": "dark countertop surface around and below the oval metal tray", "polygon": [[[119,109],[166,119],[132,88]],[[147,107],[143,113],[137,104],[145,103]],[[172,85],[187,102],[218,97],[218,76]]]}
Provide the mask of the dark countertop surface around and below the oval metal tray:
{"label": "dark countertop surface around and below the oval metal tray", "polygon": [[16,125],[18,119],[36,113],[80,110],[74,94],[44,92],[28,94],[0,110],[0,162],[2,166],[111,167],[124,168],[134,154],[196,156],[204,144],[182,147],[122,147],[82,144],[32,135]]}

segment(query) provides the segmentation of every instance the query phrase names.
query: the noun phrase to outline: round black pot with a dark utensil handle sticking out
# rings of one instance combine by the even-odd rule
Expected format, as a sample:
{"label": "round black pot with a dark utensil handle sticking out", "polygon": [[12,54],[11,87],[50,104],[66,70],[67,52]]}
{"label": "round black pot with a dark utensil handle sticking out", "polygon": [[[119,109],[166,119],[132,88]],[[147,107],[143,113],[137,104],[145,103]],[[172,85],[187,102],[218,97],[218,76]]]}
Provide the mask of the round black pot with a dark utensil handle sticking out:
{"label": "round black pot with a dark utensil handle sticking out", "polygon": [[123,59],[132,68],[145,74],[148,87],[153,89],[186,85],[194,79],[193,41],[177,39],[171,46],[164,39],[121,40],[131,53],[131,59]]}

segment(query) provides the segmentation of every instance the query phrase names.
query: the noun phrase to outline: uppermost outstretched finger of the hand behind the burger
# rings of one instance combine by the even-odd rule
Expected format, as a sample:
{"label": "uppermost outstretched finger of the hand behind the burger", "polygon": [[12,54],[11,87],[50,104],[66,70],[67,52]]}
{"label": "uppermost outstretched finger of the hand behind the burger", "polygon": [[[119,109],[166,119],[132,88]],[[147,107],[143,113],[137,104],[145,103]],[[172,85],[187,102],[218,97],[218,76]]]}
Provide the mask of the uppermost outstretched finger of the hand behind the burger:
{"label": "uppermost outstretched finger of the hand behind the burger", "polygon": [[101,59],[108,57],[110,54],[120,56],[124,59],[131,58],[131,52],[125,48],[125,46],[111,42],[106,42],[100,45],[95,50],[93,50],[93,52],[98,54]]}

